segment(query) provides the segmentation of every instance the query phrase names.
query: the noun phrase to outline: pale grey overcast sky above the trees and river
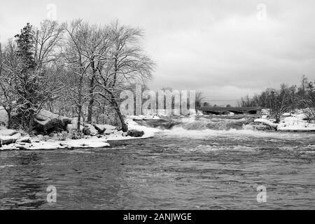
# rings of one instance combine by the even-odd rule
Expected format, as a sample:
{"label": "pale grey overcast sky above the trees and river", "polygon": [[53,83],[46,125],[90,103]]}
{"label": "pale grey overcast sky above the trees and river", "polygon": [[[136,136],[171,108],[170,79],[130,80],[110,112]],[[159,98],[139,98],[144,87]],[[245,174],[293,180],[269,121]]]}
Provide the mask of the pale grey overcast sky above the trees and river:
{"label": "pale grey overcast sky above the trees and river", "polygon": [[38,26],[49,3],[57,20],[118,19],[145,31],[144,48],[158,66],[153,90],[201,90],[212,104],[281,83],[315,79],[315,1],[1,0],[0,39],[27,23]]}

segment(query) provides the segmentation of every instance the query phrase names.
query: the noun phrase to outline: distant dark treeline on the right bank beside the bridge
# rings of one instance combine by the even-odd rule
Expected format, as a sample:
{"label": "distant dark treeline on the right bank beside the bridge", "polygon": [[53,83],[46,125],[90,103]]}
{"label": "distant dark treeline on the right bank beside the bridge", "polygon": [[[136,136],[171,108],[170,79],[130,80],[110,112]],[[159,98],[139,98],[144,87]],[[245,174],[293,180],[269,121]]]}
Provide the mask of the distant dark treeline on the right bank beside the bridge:
{"label": "distant dark treeline on the right bank beside the bridge", "polygon": [[300,85],[281,84],[279,89],[267,88],[253,97],[241,98],[239,106],[261,106],[270,109],[270,116],[279,122],[280,116],[295,109],[305,109],[308,120],[315,118],[315,81],[302,76]]}

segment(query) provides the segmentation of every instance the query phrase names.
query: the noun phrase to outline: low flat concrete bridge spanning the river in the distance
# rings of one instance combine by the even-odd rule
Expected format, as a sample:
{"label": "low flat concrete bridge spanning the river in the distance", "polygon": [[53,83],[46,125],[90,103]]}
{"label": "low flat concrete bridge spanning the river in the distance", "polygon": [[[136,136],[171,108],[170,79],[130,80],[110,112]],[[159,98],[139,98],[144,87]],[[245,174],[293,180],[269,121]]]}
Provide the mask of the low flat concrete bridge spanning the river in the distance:
{"label": "low flat concrete bridge spanning the river in the distance", "polygon": [[223,114],[227,112],[232,113],[243,113],[243,114],[258,114],[262,110],[262,107],[217,107],[217,106],[206,106],[201,107],[200,111],[203,113],[214,113],[214,114]]}

